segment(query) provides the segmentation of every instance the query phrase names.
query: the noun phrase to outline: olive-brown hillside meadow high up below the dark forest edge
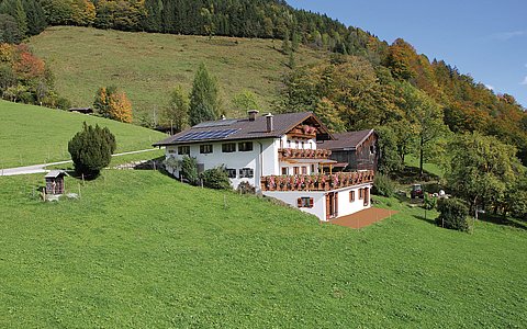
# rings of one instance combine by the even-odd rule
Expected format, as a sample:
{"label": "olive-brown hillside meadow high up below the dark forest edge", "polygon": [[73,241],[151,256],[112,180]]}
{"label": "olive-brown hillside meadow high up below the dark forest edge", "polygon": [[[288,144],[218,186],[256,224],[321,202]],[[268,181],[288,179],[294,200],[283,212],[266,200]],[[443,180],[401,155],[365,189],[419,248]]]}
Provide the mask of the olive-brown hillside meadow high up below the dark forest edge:
{"label": "olive-brown hillside meadow high up below the dark forest edge", "polygon": [[[149,113],[168,103],[168,92],[177,83],[190,90],[201,61],[217,77],[227,110],[233,94],[249,89],[259,95],[262,110],[269,111],[289,60],[277,50],[280,41],[210,41],[72,26],[51,27],[30,44],[52,65],[58,92],[75,105],[90,105],[99,87],[116,84],[126,91],[134,109]],[[318,56],[323,53],[302,48],[296,58],[309,63]]]}

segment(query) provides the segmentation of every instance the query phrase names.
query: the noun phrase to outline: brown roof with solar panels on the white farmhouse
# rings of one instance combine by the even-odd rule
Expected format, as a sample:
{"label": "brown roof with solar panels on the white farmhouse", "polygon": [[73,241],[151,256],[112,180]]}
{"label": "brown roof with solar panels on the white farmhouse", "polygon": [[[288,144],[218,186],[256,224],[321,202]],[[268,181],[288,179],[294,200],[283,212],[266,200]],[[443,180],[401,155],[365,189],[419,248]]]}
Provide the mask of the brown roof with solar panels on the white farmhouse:
{"label": "brown roof with solar panels on the white farmhouse", "polygon": [[[249,121],[248,117],[235,120],[220,120],[201,123],[191,127],[190,129],[183,131],[164,140],[155,143],[154,146],[184,145],[218,140],[279,138],[292,128],[294,128],[294,126],[309,120],[310,117],[315,121],[315,123],[324,133],[327,133],[327,128],[312,112],[301,112],[274,115],[273,131],[269,133],[267,132],[267,118],[265,115],[257,116],[255,121]],[[211,135],[213,136],[212,138]],[[330,137],[332,136],[329,135],[329,138]]]}

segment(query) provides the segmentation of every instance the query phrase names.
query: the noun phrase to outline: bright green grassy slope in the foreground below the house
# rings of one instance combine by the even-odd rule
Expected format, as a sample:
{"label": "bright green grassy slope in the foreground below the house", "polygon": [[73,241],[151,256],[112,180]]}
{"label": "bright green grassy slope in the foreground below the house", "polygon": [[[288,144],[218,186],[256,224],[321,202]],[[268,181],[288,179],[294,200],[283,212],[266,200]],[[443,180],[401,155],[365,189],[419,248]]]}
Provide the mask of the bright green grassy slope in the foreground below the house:
{"label": "bright green grassy slope in the foreground below the house", "polygon": [[527,321],[526,230],[450,231],[394,201],[400,214],[351,230],[152,171],[103,175],[58,204],[31,198],[40,175],[0,178],[0,327]]}

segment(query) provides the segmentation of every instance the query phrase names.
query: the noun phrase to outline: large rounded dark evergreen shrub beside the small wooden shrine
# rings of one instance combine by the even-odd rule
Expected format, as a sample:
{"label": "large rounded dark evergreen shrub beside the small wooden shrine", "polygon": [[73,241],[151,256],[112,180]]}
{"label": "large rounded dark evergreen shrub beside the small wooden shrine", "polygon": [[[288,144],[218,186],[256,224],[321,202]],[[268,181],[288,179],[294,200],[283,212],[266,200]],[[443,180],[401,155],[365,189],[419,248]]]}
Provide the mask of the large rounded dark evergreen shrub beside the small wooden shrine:
{"label": "large rounded dark evergreen shrub beside the small wooden shrine", "polygon": [[115,136],[106,127],[93,127],[86,122],[82,131],[68,143],[75,170],[87,178],[97,177],[110,163],[115,147]]}

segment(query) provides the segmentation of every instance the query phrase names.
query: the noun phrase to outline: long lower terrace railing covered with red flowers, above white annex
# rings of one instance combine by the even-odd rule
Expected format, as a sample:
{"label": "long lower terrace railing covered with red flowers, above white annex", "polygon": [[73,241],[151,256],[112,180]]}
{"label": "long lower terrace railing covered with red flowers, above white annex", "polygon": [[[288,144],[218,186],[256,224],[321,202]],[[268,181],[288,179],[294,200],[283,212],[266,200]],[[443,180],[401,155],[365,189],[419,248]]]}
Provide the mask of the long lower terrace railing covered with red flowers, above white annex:
{"label": "long lower terrace railing covered with red flowers, above white annex", "polygon": [[333,174],[266,175],[261,191],[330,191],[373,182],[373,170]]}

